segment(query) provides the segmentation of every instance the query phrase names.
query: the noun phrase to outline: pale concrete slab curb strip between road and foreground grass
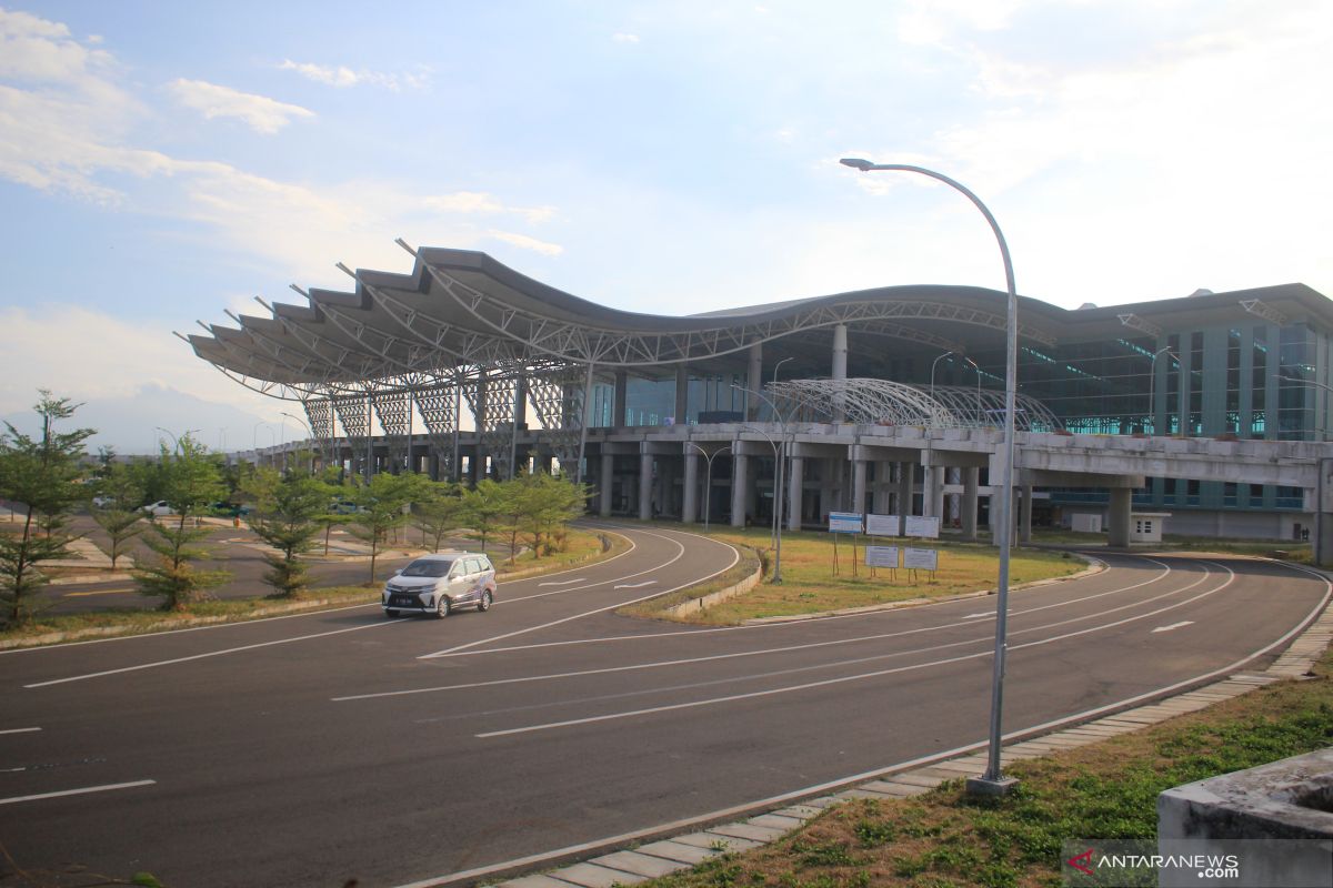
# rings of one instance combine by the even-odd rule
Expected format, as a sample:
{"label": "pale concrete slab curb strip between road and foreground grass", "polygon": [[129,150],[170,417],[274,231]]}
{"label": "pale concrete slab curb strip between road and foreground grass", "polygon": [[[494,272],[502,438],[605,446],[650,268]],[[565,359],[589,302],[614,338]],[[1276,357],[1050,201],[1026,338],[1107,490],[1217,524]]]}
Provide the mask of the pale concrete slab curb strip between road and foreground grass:
{"label": "pale concrete slab curb strip between road and foreground grass", "polygon": [[[1310,572],[1333,579],[1330,574],[1324,571],[1310,570]],[[1120,734],[1152,727],[1177,715],[1205,710],[1214,703],[1249,694],[1257,687],[1282,679],[1306,678],[1330,643],[1333,643],[1333,599],[1265,671],[1234,672],[1220,682],[1165,696],[1146,706],[1118,710],[1110,715],[1074,723],[1072,727],[1060,728],[1050,734],[1022,738],[1004,747],[1000,755],[1001,763],[1036,759],[1090,746]],[[988,766],[985,744],[976,744],[970,750],[978,751],[964,755],[946,752],[914,767],[886,771],[876,779],[862,781],[849,789],[814,799],[802,799],[797,804],[789,804],[745,820],[659,839],[633,851],[616,851],[544,873],[511,879],[499,883],[495,888],[605,888],[613,884],[631,885],[656,876],[689,869],[720,853],[750,851],[777,841],[793,829],[804,827],[826,808],[844,801],[906,799],[929,792],[948,780],[978,776]]]}

